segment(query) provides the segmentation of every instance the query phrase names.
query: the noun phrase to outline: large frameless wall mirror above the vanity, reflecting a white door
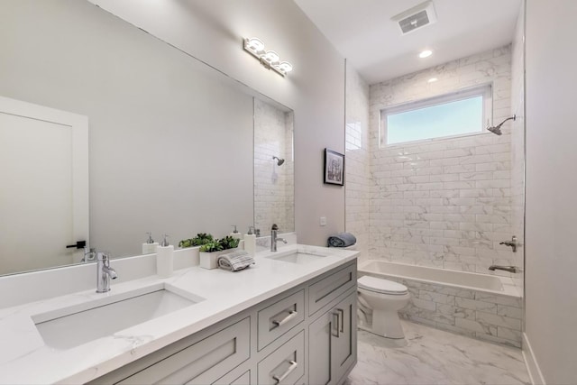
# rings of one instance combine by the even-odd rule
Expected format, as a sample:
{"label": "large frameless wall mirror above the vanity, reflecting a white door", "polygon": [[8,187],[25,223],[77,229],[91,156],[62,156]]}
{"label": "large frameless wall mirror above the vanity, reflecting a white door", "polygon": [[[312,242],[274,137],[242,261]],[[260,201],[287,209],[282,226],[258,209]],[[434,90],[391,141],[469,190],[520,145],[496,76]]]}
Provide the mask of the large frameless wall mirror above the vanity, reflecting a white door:
{"label": "large frameless wall mirror above the vanity, reflecting a white door", "polygon": [[[117,258],[141,254],[147,232],[155,241],[169,234],[178,244],[201,232],[224,236],[231,225],[243,233],[255,225],[266,234],[277,222],[294,231],[288,108],[87,1],[8,0],[0,11],[0,96],[87,117],[90,247]],[[5,138],[16,129],[10,119],[0,112]],[[55,147],[35,130],[10,144],[29,169],[19,172],[27,183],[0,187],[10,190],[0,194],[0,209],[11,207],[0,213],[0,229],[12,232],[0,234],[0,274],[83,257],[66,248],[80,241],[72,230],[60,232],[66,239],[58,241],[49,232],[76,219],[53,209],[36,220],[39,210],[30,204],[46,195],[73,196],[70,188],[48,188],[46,180],[55,179],[45,167],[48,157],[34,150],[49,148],[66,174],[63,162],[73,169],[74,161],[58,154],[71,133],[59,132]],[[8,163],[0,168],[14,175]],[[32,200],[7,200],[20,195]]]}

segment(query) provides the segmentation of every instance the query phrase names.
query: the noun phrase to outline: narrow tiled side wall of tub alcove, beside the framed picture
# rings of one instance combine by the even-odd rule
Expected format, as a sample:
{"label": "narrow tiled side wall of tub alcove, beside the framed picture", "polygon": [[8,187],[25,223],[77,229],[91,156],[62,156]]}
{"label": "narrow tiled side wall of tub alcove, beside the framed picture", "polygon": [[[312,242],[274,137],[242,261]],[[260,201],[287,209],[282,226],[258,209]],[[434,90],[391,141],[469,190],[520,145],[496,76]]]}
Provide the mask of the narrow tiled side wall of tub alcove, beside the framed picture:
{"label": "narrow tiled side wall of tub alcove, beside the framed picture", "polygon": [[345,229],[356,236],[362,261],[369,251],[371,209],[369,86],[348,63],[345,115]]}

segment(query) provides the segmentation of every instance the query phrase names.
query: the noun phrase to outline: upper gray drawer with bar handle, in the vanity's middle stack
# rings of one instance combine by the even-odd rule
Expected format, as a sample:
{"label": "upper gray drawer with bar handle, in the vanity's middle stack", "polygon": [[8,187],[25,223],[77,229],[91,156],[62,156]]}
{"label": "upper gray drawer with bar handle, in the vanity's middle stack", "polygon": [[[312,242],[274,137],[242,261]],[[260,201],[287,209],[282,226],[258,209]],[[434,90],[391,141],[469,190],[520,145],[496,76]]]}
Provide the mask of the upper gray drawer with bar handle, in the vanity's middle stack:
{"label": "upper gray drawer with bar handle, in the vanity's middle stack", "polygon": [[305,290],[263,308],[258,316],[259,350],[305,319]]}

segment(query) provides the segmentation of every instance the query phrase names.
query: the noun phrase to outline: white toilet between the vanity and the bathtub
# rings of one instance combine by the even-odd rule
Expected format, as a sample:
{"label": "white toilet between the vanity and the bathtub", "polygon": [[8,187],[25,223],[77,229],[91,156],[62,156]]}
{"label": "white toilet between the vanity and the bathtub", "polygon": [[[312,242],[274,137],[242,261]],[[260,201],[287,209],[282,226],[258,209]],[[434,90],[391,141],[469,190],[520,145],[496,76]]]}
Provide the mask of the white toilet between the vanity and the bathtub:
{"label": "white toilet between the vanity and the bathtub", "polygon": [[372,310],[371,333],[387,338],[405,338],[398,310],[408,305],[410,294],[405,285],[368,275],[357,280],[359,307]]}

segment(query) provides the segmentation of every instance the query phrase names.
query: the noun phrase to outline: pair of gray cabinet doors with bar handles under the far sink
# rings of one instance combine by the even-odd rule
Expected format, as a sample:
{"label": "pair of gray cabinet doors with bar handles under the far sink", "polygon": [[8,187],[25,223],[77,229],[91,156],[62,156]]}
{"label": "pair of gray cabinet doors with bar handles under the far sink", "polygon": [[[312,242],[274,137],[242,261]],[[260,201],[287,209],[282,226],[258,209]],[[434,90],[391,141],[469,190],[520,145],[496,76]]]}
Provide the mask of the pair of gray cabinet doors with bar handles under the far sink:
{"label": "pair of gray cabinet doors with bar handles under the far sink", "polygon": [[336,384],[356,362],[356,291],[308,326],[308,383]]}

